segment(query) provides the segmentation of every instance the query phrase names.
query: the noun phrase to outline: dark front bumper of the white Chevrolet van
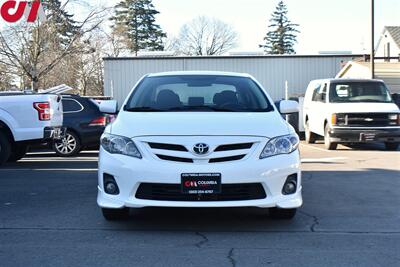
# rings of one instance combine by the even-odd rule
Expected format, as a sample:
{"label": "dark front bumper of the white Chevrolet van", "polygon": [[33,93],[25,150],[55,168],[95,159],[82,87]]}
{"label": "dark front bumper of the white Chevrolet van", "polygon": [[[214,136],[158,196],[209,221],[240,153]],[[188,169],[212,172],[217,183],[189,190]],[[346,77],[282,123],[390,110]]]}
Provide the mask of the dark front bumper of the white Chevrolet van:
{"label": "dark front bumper of the white Chevrolet van", "polygon": [[400,142],[400,128],[333,128],[329,134],[340,143]]}

